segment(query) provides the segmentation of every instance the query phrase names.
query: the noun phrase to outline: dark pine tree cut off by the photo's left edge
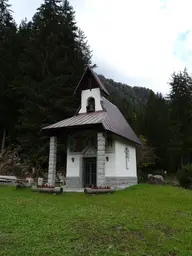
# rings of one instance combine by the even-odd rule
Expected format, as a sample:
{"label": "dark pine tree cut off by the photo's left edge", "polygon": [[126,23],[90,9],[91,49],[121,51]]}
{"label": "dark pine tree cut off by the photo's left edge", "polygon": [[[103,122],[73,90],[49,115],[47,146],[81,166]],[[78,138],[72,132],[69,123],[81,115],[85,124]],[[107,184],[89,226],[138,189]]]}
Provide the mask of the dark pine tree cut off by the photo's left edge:
{"label": "dark pine tree cut off by the photo's left edge", "polygon": [[17,99],[12,81],[17,74],[17,27],[7,0],[0,0],[0,133],[1,149],[6,134],[13,135],[17,122]]}

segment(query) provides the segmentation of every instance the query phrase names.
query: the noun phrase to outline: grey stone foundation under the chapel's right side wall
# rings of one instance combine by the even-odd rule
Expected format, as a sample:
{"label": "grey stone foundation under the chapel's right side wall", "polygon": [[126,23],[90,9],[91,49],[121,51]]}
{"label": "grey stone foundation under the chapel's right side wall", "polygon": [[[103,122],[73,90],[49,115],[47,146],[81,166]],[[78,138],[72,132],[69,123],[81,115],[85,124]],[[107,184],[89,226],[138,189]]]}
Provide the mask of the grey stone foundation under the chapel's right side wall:
{"label": "grey stone foundation under the chapel's right side wall", "polygon": [[137,177],[105,177],[105,184],[114,188],[126,188],[138,184]]}

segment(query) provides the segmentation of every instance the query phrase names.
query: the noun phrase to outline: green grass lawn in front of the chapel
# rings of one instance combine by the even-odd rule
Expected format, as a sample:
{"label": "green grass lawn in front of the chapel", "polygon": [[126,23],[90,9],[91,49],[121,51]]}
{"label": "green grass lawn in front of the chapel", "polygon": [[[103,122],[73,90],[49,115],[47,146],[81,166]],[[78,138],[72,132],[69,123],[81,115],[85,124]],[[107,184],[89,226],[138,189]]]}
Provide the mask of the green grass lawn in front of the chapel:
{"label": "green grass lawn in front of the chapel", "polygon": [[192,191],[138,185],[88,196],[0,187],[0,255],[190,256]]}

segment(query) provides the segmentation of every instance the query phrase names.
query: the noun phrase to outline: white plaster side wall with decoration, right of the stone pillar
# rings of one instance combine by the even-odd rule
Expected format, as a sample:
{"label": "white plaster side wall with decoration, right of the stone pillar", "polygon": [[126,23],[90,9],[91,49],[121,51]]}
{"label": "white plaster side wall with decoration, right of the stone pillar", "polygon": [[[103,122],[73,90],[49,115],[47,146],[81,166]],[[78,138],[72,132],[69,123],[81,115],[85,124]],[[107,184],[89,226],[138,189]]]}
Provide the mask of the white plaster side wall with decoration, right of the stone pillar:
{"label": "white plaster side wall with decoration, right of the stone pillar", "polygon": [[[129,149],[128,169],[125,158],[126,147]],[[115,167],[118,177],[137,177],[136,148],[126,140],[115,141]]]}

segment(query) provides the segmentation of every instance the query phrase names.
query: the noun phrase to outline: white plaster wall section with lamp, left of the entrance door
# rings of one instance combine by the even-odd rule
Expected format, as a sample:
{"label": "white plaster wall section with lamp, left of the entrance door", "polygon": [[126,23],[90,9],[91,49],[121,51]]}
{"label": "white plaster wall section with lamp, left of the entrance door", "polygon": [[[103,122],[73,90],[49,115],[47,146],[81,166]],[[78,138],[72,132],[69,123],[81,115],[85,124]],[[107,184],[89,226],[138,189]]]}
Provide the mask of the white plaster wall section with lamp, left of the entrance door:
{"label": "white plaster wall section with lamp, left of the entrance door", "polygon": [[[74,158],[72,162],[71,158]],[[67,152],[67,174],[66,177],[79,177],[81,175],[81,158],[82,155]]]}

